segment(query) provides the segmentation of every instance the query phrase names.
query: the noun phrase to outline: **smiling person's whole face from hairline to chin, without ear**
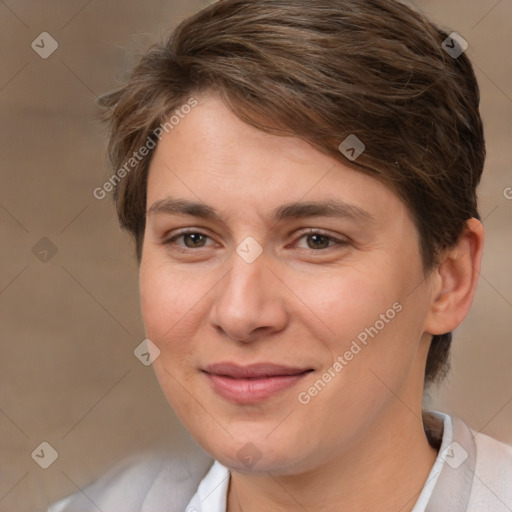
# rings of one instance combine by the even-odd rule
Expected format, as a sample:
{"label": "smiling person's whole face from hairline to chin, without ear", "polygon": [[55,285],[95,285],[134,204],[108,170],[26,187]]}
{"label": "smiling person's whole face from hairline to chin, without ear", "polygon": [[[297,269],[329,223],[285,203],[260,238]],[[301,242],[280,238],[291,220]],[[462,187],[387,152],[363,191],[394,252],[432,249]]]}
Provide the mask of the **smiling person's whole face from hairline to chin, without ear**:
{"label": "smiling person's whole face from hairline to chin, without ear", "polygon": [[308,470],[421,410],[431,288],[383,184],[203,95],[159,143],[147,205],[153,366],[221,463]]}

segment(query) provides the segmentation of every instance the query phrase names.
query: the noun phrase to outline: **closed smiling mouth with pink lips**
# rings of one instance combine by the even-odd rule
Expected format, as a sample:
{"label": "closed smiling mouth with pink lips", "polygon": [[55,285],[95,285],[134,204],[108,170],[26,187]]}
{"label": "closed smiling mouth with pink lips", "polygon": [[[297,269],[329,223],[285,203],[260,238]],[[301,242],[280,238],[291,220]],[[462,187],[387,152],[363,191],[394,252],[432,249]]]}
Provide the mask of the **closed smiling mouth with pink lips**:
{"label": "closed smiling mouth with pink lips", "polygon": [[202,370],[213,390],[237,404],[261,402],[297,384],[312,368],[260,363],[240,366],[219,363]]}

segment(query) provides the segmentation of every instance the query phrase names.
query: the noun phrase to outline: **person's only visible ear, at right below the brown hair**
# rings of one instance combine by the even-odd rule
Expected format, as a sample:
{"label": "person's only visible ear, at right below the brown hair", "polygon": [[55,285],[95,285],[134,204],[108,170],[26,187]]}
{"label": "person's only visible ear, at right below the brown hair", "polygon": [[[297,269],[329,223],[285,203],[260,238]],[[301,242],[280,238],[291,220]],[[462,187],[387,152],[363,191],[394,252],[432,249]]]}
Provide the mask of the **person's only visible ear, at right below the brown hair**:
{"label": "person's only visible ear, at right below the brown hair", "polygon": [[482,262],[484,227],[469,219],[457,244],[446,251],[434,271],[432,300],[425,323],[429,334],[445,334],[458,327],[473,302]]}

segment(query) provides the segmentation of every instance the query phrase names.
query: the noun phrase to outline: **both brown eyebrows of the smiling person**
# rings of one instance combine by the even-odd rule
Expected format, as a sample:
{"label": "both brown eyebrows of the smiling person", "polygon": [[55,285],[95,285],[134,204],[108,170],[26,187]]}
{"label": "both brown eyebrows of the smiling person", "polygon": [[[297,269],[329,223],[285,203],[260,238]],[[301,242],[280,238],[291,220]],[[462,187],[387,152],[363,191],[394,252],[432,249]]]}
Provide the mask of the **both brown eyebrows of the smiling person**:
{"label": "both brown eyebrows of the smiling person", "polygon": [[[167,197],[154,202],[147,214],[189,215],[201,219],[220,221],[227,224],[224,216],[215,208],[201,202],[188,199]],[[375,217],[366,210],[344,201],[329,199],[326,201],[306,201],[288,203],[272,212],[272,220],[302,219],[307,217],[338,217],[353,220],[375,221]]]}

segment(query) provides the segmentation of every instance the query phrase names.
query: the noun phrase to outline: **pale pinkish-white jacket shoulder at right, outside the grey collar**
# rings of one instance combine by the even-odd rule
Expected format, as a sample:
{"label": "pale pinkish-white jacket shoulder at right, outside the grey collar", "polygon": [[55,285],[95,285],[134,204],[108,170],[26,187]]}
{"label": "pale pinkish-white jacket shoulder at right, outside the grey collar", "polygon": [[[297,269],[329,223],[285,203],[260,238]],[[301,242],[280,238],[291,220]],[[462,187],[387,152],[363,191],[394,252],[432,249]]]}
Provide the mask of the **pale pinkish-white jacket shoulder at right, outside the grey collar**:
{"label": "pale pinkish-white jacket shoulder at right, outside the grey collar", "polygon": [[475,475],[468,512],[512,510],[512,446],[471,431],[476,445]]}

